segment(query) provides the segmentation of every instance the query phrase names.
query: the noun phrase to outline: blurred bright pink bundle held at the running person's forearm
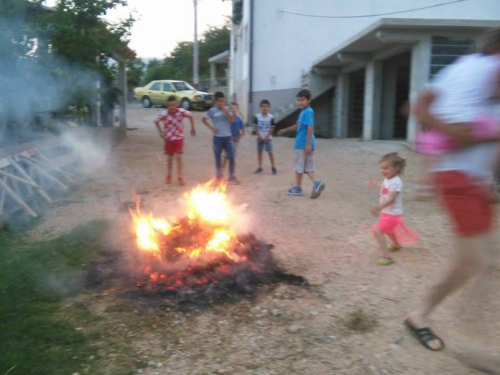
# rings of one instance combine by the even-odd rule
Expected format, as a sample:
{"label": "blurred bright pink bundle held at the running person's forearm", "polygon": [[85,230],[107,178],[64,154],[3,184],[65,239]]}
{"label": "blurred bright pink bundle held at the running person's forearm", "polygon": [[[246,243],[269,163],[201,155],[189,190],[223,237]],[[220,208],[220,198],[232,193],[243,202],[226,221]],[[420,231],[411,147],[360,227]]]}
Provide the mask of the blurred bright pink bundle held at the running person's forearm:
{"label": "blurred bright pink bundle held at the running person's forearm", "polygon": [[[500,124],[494,116],[478,118],[472,126],[474,138],[481,139],[500,133]],[[415,148],[422,154],[442,155],[459,148],[460,145],[450,137],[436,130],[422,130],[418,132]]]}

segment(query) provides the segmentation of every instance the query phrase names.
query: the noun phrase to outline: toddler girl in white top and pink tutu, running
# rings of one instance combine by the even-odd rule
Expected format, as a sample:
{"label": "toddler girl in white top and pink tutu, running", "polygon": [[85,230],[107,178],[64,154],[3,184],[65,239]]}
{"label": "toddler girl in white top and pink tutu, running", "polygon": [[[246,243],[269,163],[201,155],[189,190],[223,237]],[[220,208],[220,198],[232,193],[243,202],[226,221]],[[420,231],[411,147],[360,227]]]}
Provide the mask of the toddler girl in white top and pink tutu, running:
{"label": "toddler girl in white top and pink tutu, running", "polygon": [[[381,257],[378,264],[388,266],[394,263],[391,252],[402,246],[409,246],[419,240],[419,235],[409,230],[403,221],[403,180],[406,161],[397,153],[387,154],[380,160],[380,172],[384,181],[380,185],[380,204],[371,209],[374,216],[380,216],[379,222],[371,229],[377,240]],[[391,241],[387,247],[386,236]]]}

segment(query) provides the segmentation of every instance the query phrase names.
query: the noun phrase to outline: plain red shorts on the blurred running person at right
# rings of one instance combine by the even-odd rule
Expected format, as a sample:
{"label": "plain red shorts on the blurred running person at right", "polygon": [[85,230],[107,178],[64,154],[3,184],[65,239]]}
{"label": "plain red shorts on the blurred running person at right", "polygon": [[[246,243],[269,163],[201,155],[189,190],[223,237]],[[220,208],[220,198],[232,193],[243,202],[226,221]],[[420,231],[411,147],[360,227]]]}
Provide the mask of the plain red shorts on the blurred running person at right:
{"label": "plain red shorts on the blurred running person at right", "polygon": [[460,171],[436,172],[433,177],[441,204],[459,236],[475,236],[492,229],[494,213],[486,187]]}

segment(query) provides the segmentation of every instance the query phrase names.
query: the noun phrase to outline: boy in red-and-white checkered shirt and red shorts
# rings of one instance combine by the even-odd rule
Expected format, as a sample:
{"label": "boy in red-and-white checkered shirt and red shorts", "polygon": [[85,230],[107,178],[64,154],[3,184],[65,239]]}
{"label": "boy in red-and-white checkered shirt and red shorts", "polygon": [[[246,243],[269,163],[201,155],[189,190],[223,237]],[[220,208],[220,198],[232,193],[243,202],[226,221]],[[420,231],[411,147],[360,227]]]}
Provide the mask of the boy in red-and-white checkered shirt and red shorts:
{"label": "boy in red-and-white checkered shirt and red shorts", "polygon": [[[172,183],[172,167],[174,156],[177,160],[177,177],[179,185],[184,186],[182,176],[182,150],[184,146],[184,124],[183,120],[187,117],[191,122],[191,135],[196,135],[194,128],[193,114],[184,109],[178,108],[177,98],[174,95],[167,99],[167,110],[160,113],[155,120],[156,128],[160,133],[160,138],[165,140],[165,154],[167,154],[167,185]],[[163,129],[160,127],[163,124]]]}

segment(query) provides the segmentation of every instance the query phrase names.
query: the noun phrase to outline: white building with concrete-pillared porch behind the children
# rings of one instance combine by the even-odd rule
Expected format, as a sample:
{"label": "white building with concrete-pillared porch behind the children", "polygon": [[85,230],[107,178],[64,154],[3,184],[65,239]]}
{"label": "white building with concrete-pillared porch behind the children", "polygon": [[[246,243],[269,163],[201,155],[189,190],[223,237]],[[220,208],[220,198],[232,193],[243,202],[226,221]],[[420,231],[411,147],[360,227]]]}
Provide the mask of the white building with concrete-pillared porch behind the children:
{"label": "white building with concrete-pillared porch behind the children", "polygon": [[[229,92],[249,117],[269,99],[296,120],[295,95],[313,94],[317,134],[407,139],[402,108],[440,68],[500,25],[500,0],[233,0]],[[238,12],[236,12],[238,13]],[[238,16],[238,14],[236,14]],[[238,19],[238,17],[236,17]]]}

